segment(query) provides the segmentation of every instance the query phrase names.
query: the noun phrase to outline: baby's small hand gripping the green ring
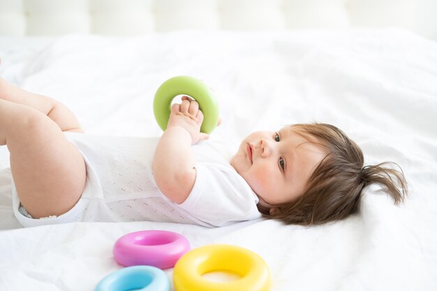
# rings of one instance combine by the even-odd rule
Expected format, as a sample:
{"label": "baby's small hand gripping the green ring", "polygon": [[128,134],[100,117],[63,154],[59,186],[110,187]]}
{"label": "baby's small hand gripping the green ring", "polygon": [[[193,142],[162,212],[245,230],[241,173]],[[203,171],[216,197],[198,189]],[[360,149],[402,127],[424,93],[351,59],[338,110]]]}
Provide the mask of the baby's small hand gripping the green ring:
{"label": "baby's small hand gripping the green ring", "polygon": [[181,104],[173,104],[168,119],[167,128],[179,126],[184,128],[191,135],[191,144],[196,144],[201,140],[207,140],[209,135],[200,132],[203,121],[203,113],[197,101],[184,96]]}

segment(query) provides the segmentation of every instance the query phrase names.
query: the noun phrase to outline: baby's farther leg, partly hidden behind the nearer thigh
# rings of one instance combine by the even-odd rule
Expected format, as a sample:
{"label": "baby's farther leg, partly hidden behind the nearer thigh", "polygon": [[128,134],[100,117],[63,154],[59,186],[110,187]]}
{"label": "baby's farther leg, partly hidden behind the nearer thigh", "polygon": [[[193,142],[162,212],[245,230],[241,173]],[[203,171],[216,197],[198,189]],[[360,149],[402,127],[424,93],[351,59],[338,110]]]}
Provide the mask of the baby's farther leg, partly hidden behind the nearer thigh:
{"label": "baby's farther leg, partly hidden behind the nearer thigh", "polygon": [[83,132],[75,115],[66,105],[50,97],[25,91],[10,84],[1,77],[0,99],[35,108],[56,122],[62,131]]}

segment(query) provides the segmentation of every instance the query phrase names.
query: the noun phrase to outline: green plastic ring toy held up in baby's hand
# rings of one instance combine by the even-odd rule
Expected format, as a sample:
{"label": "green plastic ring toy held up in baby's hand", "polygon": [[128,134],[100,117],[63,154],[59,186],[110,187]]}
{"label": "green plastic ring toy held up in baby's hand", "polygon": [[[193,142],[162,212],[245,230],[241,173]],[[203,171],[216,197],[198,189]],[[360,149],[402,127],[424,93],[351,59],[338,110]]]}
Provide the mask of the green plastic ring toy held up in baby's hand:
{"label": "green plastic ring toy held up in baby's hand", "polygon": [[194,98],[203,112],[203,122],[200,126],[202,133],[212,133],[218,122],[218,102],[207,85],[193,77],[178,76],[163,82],[154,98],[154,114],[158,126],[165,130],[172,100],[178,95],[187,95]]}

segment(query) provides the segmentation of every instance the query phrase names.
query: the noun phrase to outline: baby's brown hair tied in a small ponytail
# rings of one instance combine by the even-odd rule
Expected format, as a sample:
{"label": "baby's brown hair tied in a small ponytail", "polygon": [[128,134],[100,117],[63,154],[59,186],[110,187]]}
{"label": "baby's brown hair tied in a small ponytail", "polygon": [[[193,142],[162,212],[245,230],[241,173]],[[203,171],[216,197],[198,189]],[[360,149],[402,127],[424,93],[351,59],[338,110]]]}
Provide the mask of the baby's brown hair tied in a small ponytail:
{"label": "baby's brown hair tied in a small ponytail", "polygon": [[337,221],[357,211],[364,188],[370,184],[382,186],[394,204],[403,202],[407,184],[399,165],[385,162],[363,166],[360,147],[330,124],[295,124],[292,128],[309,142],[323,147],[327,155],[311,174],[304,194],[295,201],[272,205],[272,213],[260,206],[265,217],[299,225]]}

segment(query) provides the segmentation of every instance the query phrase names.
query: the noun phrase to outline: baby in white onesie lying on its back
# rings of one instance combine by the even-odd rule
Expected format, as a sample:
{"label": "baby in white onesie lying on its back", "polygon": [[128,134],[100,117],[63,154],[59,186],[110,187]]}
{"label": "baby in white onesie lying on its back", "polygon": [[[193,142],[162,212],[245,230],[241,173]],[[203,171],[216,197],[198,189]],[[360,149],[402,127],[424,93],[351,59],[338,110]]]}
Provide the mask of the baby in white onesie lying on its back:
{"label": "baby in white onesie lying on its back", "polygon": [[397,204],[401,170],[364,166],[362,151],[329,124],[246,137],[236,154],[200,133],[195,100],[172,105],[160,138],[83,134],[65,105],[0,78],[0,145],[10,151],[13,208],[24,226],[163,221],[206,227],[265,216],[315,225],[357,210],[380,184]]}

